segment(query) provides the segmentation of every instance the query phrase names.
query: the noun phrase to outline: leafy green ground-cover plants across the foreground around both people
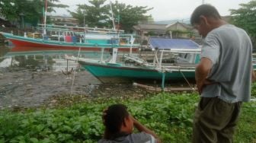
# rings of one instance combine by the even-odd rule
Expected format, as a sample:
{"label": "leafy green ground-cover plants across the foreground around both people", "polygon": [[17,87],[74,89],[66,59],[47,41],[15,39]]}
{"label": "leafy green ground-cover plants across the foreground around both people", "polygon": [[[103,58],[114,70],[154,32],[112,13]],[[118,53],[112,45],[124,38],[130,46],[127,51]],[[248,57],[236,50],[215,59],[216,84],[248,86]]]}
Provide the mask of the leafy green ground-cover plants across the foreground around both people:
{"label": "leafy green ground-cover plants across the foreground around both people", "polygon": [[[130,112],[164,142],[190,142],[195,93],[157,94],[135,98],[98,98],[54,109],[0,111],[0,142],[96,142],[104,126],[101,113],[112,103],[125,103]],[[61,101],[62,102],[62,101]],[[244,103],[235,142],[256,141],[256,102]]]}

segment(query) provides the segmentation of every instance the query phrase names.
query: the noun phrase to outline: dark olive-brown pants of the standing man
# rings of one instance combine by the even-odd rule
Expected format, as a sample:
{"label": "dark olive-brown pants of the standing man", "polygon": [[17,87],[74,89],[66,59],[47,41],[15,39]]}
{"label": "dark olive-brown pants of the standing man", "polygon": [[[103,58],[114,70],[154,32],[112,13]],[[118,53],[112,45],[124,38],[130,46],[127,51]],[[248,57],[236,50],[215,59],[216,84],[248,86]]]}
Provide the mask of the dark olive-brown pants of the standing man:
{"label": "dark olive-brown pants of the standing man", "polygon": [[232,142],[242,102],[201,97],[194,116],[193,142]]}

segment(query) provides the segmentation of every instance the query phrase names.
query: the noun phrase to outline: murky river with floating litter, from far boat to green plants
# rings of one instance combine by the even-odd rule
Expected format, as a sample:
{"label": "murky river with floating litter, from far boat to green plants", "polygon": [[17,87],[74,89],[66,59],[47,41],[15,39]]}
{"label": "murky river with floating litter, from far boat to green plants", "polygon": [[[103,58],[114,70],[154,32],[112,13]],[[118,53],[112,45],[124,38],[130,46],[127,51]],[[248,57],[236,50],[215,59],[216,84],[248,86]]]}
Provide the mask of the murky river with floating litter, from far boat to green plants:
{"label": "murky river with floating litter, from far boat to green plants", "polygon": [[[52,106],[59,98],[69,101],[69,97],[76,95],[82,98],[141,97],[146,91],[133,87],[132,83],[101,84],[75,62],[63,58],[75,52],[14,49],[0,46],[0,109]],[[62,73],[69,73],[71,69],[78,70],[74,81],[74,71],[71,75]]]}

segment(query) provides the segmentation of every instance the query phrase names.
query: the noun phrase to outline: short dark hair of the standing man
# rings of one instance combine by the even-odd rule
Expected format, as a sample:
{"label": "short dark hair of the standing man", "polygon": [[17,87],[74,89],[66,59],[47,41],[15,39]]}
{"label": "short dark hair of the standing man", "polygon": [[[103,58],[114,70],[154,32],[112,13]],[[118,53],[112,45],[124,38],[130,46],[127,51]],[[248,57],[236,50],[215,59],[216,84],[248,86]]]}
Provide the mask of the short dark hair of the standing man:
{"label": "short dark hair of the standing man", "polygon": [[205,17],[214,17],[216,19],[221,19],[219,12],[215,7],[212,5],[200,5],[198,6],[190,17],[190,24],[199,24],[200,23],[200,16]]}

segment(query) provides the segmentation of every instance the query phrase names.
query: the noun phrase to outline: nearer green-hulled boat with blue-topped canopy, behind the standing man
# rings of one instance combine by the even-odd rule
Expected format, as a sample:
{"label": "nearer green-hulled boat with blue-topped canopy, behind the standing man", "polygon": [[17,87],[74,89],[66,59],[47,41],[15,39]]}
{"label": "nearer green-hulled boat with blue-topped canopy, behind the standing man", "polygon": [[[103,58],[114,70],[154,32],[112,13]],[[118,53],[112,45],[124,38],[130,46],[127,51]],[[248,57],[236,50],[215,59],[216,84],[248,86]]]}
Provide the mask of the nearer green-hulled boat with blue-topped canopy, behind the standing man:
{"label": "nearer green-hulled boat with blue-topped canopy, behind the standing man", "polygon": [[[192,40],[151,38],[149,44],[152,57],[149,60],[133,54],[113,56],[108,60],[66,57],[77,60],[83,68],[102,82],[136,81],[140,79],[165,81],[194,78],[195,66],[199,62],[200,46]],[[169,62],[164,59],[169,57]],[[162,85],[163,86],[163,85]]]}

